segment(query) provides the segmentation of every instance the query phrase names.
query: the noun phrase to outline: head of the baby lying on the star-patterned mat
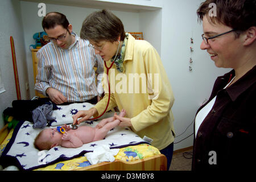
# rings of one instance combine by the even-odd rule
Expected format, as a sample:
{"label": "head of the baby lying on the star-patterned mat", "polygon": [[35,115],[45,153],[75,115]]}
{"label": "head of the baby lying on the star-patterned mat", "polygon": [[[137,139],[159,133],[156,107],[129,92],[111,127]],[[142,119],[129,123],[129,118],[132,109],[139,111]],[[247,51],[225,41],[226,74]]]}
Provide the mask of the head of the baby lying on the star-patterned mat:
{"label": "head of the baby lying on the star-patterned mat", "polygon": [[44,129],[35,138],[34,146],[38,150],[50,150],[52,147],[59,146],[62,142],[62,134],[56,129]]}

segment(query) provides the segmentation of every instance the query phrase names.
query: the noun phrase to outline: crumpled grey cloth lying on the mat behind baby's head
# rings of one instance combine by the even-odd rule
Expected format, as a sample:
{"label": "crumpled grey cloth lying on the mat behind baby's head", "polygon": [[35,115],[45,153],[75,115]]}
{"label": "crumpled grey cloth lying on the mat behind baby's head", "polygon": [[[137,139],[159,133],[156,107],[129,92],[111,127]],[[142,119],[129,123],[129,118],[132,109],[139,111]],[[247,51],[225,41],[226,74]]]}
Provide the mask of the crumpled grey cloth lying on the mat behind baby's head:
{"label": "crumpled grey cloth lying on the mat behind baby's head", "polygon": [[33,128],[41,128],[43,129],[47,125],[47,121],[51,121],[56,119],[55,117],[51,117],[52,115],[52,104],[44,104],[42,106],[36,107],[32,111],[32,119],[34,121]]}

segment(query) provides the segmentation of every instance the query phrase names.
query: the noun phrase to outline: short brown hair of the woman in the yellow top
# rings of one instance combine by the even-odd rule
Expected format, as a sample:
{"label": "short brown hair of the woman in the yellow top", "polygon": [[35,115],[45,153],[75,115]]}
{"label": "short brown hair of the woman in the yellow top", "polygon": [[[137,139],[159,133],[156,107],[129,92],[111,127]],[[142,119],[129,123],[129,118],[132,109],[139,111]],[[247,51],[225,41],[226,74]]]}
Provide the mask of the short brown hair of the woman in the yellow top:
{"label": "short brown hair of the woman in the yellow top", "polygon": [[82,39],[100,42],[108,40],[109,42],[117,41],[118,37],[125,39],[125,29],[122,21],[108,10],[95,11],[88,15],[82,23],[80,37]]}

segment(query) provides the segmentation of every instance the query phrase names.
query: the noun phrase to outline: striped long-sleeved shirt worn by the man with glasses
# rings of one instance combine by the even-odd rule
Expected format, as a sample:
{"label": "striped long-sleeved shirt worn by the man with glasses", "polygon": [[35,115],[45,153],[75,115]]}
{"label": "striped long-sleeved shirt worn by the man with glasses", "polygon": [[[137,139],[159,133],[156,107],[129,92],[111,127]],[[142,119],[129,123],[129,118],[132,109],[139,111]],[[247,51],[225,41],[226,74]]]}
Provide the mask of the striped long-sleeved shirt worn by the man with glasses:
{"label": "striped long-sleeved shirt worn by the man with glasses", "polygon": [[46,95],[46,89],[52,87],[67,97],[68,102],[82,102],[104,92],[101,84],[104,66],[100,55],[89,47],[89,41],[72,34],[75,42],[68,49],[52,42],[39,49],[35,89]]}

